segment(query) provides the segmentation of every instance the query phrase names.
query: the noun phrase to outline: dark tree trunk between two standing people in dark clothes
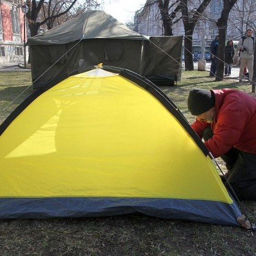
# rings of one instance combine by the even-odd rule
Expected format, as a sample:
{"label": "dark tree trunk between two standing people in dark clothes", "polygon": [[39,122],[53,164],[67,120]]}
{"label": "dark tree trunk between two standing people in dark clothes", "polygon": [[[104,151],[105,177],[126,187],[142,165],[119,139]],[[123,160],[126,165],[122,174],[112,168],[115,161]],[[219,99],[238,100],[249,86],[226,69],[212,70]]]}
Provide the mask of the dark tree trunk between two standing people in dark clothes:
{"label": "dark tree trunk between two standing people in dark clothes", "polygon": [[217,68],[216,68],[216,81],[223,80],[224,73],[224,56],[225,56],[225,40],[226,40],[226,32],[228,25],[228,15],[230,10],[234,6],[237,0],[223,0],[224,7],[221,12],[219,20],[217,20],[216,24],[219,28],[219,47],[218,47],[218,55],[217,55]]}

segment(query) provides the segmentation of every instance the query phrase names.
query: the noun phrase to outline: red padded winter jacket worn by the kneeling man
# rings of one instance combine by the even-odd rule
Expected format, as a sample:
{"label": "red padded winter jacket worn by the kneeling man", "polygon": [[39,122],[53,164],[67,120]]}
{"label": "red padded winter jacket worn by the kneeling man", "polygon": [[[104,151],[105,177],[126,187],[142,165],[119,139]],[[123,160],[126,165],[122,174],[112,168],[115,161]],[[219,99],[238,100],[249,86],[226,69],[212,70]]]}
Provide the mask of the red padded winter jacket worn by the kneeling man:
{"label": "red padded winter jacket worn by the kneeling man", "polygon": [[202,138],[203,130],[211,126],[213,137],[205,142],[214,157],[219,157],[233,146],[256,154],[256,99],[235,89],[212,90],[215,95],[213,123],[196,119],[192,128]]}

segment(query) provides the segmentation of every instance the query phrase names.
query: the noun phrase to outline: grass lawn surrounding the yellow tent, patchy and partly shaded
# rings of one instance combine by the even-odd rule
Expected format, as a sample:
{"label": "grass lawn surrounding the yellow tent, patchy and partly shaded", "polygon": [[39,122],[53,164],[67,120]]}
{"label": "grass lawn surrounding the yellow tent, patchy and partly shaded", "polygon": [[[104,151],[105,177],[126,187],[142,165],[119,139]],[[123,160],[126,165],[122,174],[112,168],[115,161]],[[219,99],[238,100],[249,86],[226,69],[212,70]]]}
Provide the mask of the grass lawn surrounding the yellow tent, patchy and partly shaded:
{"label": "grass lawn surrounding the yellow tent, patchy and partly shaded", "polygon": [[[189,122],[190,88],[236,88],[230,77],[216,82],[208,72],[183,72],[177,86],[161,89]],[[0,123],[31,92],[30,72],[0,72]],[[223,168],[223,163],[217,159]],[[0,167],[1,168],[1,167]],[[1,180],[1,179],[0,179]],[[252,223],[256,202],[243,202]],[[256,233],[240,227],[165,220],[141,214],[87,219],[0,220],[0,255],[256,255]]]}

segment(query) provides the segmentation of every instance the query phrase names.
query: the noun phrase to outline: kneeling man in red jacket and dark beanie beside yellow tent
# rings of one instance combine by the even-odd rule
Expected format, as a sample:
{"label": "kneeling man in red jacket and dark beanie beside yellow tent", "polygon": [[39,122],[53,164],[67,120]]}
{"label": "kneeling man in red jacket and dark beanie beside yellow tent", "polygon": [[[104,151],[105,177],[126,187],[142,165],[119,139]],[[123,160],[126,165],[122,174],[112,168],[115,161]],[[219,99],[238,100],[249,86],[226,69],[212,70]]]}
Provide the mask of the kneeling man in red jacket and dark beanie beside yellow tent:
{"label": "kneeling man in red jacket and dark beanie beside yellow tent", "polygon": [[239,200],[256,200],[256,99],[235,89],[189,92],[192,128],[214,157],[222,157]]}

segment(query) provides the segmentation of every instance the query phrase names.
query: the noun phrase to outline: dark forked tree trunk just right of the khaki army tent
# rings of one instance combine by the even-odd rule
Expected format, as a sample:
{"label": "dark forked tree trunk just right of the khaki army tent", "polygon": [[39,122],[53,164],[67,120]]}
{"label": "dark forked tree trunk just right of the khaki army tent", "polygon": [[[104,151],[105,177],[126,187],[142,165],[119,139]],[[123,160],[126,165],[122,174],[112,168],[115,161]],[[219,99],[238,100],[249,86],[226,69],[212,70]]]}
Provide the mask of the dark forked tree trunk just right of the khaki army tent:
{"label": "dark forked tree trunk just right of the khaki army tent", "polygon": [[205,11],[211,0],[203,0],[197,9],[190,9],[188,6],[188,0],[181,0],[181,13],[183,17],[183,24],[185,30],[184,39],[184,58],[185,69],[194,70],[193,56],[192,56],[192,42],[195,25],[201,18],[202,13]]}

